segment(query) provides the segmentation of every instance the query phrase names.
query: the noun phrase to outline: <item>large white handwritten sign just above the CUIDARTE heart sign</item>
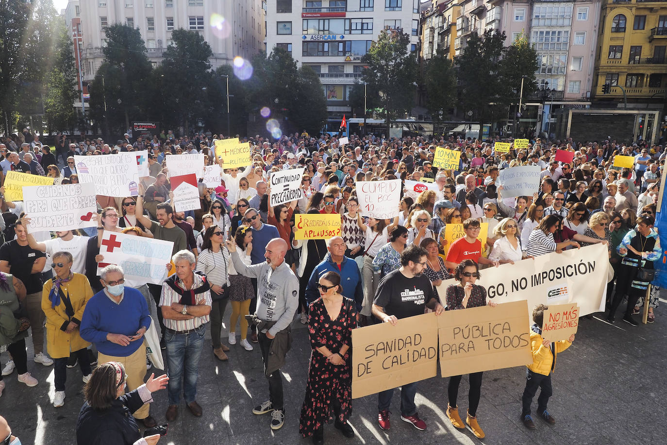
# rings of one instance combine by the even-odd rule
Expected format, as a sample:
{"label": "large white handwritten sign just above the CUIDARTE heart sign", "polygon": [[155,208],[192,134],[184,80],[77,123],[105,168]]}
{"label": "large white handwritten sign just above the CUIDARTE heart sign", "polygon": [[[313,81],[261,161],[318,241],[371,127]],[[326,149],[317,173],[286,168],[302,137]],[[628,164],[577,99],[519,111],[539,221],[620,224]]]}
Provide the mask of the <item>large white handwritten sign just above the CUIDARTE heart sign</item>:
{"label": "large white handwritten sign just above the CUIDARTE heart sign", "polygon": [[95,193],[127,197],[139,194],[137,157],[131,151],[116,155],[74,156],[80,183],[94,183]]}

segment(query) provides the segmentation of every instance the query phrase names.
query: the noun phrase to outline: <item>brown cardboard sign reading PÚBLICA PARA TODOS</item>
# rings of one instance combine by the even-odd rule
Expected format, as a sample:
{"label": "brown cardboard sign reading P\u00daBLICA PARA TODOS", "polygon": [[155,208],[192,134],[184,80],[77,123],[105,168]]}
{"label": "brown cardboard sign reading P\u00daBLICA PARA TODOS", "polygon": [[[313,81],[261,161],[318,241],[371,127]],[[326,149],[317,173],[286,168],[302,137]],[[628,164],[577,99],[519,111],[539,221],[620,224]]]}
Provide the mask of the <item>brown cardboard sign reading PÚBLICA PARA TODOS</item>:
{"label": "brown cardboard sign reading P\u00daBLICA PARA TODOS", "polygon": [[440,376],[531,364],[527,317],[525,301],[443,312],[436,317]]}

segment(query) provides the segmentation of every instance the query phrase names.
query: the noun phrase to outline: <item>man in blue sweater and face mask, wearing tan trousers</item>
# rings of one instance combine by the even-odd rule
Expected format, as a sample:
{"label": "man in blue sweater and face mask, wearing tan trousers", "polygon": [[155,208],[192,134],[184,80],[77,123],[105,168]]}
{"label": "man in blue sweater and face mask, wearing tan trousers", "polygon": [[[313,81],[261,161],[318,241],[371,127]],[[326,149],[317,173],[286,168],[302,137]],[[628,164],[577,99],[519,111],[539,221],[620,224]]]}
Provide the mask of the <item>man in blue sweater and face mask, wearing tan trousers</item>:
{"label": "man in blue sweater and face mask, wearing tan trousers", "polygon": [[[151,326],[145,298],[134,288],[125,288],[123,269],[111,264],[99,280],[104,289],[88,301],[81,320],[81,338],[95,344],[97,363],[120,362],[127,372],[127,390],[143,384],[146,375],[146,347],[143,335]],[[146,428],[157,425],[149,404],[134,413]]]}

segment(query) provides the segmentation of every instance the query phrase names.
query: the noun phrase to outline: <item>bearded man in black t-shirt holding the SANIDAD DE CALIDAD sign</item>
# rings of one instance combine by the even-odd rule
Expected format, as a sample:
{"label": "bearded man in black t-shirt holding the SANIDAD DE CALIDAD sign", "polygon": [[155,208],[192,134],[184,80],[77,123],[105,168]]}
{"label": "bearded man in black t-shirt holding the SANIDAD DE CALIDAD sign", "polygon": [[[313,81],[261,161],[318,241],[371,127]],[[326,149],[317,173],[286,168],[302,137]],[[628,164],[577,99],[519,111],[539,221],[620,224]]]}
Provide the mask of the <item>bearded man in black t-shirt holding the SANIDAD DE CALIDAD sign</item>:
{"label": "bearded man in black t-shirt holding the SANIDAD DE CALIDAD sign", "polygon": [[[426,249],[410,246],[401,254],[401,267],[387,274],[375,295],[373,315],[385,323],[396,326],[401,318],[424,314],[429,308],[442,314],[444,308],[438,302],[433,286],[422,272],[426,268]],[[418,430],[426,430],[426,422],[419,418],[415,406],[417,382],[401,387],[401,420],[410,422]],[[378,394],[378,424],[383,430],[390,428],[389,406],[394,390]]]}

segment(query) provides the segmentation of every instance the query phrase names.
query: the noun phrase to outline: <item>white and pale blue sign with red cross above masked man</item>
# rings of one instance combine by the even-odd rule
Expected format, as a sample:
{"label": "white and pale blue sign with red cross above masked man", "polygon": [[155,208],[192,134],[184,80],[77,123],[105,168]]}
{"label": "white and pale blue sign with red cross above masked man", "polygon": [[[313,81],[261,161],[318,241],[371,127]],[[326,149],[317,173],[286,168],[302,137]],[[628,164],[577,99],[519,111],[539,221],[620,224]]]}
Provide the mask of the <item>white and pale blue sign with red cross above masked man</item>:
{"label": "white and pale blue sign with red cross above masked man", "polygon": [[116,264],[125,272],[128,281],[145,284],[162,284],[167,278],[165,265],[171,261],[173,241],[156,240],[104,231],[99,254],[104,257],[97,264],[97,274],[109,264]]}

